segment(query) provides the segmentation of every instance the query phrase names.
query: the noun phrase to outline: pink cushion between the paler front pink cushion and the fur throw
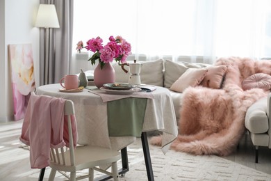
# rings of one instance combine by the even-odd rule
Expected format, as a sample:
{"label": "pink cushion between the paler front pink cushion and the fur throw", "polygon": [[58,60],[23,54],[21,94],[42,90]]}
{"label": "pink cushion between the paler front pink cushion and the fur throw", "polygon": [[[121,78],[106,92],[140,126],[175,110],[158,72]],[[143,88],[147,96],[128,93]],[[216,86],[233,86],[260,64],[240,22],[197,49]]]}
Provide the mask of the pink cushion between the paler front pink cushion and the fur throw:
{"label": "pink cushion between the paler front pink cushion and the fur throw", "polygon": [[221,88],[222,81],[228,70],[227,65],[220,65],[208,68],[206,77],[204,77],[201,85],[208,88]]}

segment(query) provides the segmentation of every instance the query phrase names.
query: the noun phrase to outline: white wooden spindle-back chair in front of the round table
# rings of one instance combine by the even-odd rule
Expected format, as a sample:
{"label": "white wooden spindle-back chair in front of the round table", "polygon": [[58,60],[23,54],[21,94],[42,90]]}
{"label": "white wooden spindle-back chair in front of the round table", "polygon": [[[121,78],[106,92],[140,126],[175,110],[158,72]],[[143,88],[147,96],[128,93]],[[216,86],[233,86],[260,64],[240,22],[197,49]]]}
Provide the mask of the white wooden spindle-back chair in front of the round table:
{"label": "white wooden spindle-back chair in front of the round table", "polygon": [[[117,160],[121,158],[120,152],[106,148],[80,145],[74,148],[72,138],[71,116],[74,115],[74,103],[70,100],[65,102],[65,116],[68,117],[69,148],[51,148],[51,173],[49,180],[54,180],[56,171],[63,173],[69,180],[81,180],[89,178],[94,180],[94,170],[110,175],[114,180],[119,180],[117,171]],[[112,166],[111,171],[99,168],[99,165]],[[76,178],[76,171],[88,169],[88,175]],[[70,172],[69,176],[65,174]]]}

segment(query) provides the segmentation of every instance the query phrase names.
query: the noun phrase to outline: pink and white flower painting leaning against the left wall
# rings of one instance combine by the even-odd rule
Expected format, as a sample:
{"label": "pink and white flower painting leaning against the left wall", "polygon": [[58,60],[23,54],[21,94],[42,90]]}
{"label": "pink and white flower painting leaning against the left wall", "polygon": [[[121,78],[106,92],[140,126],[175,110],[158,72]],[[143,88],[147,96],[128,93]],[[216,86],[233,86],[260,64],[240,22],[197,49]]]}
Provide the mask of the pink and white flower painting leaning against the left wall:
{"label": "pink and white flower painting leaning against the left wall", "polygon": [[35,90],[31,44],[8,45],[12,72],[14,119],[24,118],[31,91]]}

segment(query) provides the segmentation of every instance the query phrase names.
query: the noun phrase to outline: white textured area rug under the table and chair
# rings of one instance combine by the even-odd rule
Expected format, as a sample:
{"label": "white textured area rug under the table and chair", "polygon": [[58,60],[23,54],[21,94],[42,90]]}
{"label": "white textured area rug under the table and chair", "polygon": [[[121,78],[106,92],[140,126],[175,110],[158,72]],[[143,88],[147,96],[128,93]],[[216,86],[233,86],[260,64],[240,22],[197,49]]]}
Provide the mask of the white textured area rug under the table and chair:
{"label": "white textured area rug under the table and chair", "polygon": [[[253,168],[231,162],[217,156],[195,156],[183,152],[169,150],[163,155],[161,148],[149,145],[151,162],[154,170],[154,179],[163,180],[271,180],[271,175],[256,171]],[[23,149],[22,149],[23,150]],[[28,155],[28,151],[24,150]],[[25,154],[25,153],[24,153]],[[26,156],[27,156],[26,155]],[[28,156],[27,156],[28,157]],[[128,147],[129,172],[120,180],[140,181],[147,180],[145,160],[142,152],[140,139]],[[28,159],[26,159],[28,162]],[[119,168],[121,163],[119,163]],[[32,169],[32,173],[23,177],[22,180],[37,180],[38,169]],[[85,171],[82,171],[84,173]],[[47,168],[44,180],[48,180],[50,168]],[[81,173],[81,174],[82,174]],[[80,173],[77,175],[81,175]],[[82,174],[83,175],[83,174]],[[95,173],[95,176],[99,176]],[[4,179],[5,180],[5,179]],[[56,174],[55,180],[65,180],[60,173]],[[88,180],[88,179],[84,179]],[[113,179],[110,179],[111,181]]]}

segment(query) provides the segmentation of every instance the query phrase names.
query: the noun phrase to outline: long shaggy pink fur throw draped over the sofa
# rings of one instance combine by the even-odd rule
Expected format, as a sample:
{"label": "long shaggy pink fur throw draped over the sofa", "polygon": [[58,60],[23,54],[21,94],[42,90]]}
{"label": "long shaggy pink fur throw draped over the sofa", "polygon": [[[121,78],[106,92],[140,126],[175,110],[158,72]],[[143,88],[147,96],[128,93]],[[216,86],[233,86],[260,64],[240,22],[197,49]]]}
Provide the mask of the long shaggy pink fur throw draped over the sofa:
{"label": "long shaggy pink fur throw draped over the sofa", "polygon": [[[220,58],[215,65],[228,65],[222,89],[186,88],[181,101],[179,135],[171,148],[195,155],[229,155],[245,132],[245,113],[269,91],[242,89],[243,79],[263,72],[271,74],[271,61]],[[150,141],[161,145],[161,136]]]}

